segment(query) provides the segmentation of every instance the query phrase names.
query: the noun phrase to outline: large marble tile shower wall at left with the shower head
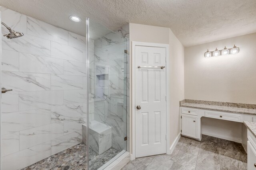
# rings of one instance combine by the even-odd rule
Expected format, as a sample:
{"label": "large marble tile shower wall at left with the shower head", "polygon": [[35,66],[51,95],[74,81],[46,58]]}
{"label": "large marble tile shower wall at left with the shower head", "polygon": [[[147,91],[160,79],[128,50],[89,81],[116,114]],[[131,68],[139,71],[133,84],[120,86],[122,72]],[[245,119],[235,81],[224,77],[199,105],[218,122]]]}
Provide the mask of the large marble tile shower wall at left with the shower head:
{"label": "large marble tile shower wall at left with the shower head", "polygon": [[2,38],[2,87],[13,89],[2,94],[2,168],[16,170],[82,142],[86,38],[0,10],[3,22],[25,34]]}

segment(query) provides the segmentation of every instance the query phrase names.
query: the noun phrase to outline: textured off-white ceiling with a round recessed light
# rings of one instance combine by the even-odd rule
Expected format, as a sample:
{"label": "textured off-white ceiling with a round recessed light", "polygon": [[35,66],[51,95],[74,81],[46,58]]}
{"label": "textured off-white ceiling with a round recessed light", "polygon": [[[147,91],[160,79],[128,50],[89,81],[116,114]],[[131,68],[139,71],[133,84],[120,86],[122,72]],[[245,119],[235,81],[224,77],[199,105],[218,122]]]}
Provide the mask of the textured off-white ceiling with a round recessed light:
{"label": "textured off-white ceiling with a round recessed light", "polygon": [[[170,27],[184,46],[256,32],[256,0],[1,0],[20,13],[84,35],[89,17],[115,30],[125,23]],[[82,23],[68,16],[77,15]]]}

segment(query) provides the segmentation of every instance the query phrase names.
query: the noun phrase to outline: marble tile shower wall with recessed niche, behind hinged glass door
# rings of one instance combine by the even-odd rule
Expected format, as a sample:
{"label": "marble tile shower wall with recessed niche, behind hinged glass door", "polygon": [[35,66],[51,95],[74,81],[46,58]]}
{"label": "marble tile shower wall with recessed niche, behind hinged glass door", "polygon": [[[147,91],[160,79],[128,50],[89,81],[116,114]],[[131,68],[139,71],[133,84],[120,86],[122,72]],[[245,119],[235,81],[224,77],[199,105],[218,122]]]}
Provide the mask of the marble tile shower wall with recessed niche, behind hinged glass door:
{"label": "marble tile shower wall with recessed niche, behind hinged glass door", "polygon": [[[116,33],[108,33],[94,40],[94,117],[96,121],[112,127],[112,147],[119,151],[126,150],[124,137],[127,135],[130,119],[129,55],[124,53],[125,49],[129,50],[129,24],[118,29]],[[97,75],[106,73],[104,82],[99,86]]]}

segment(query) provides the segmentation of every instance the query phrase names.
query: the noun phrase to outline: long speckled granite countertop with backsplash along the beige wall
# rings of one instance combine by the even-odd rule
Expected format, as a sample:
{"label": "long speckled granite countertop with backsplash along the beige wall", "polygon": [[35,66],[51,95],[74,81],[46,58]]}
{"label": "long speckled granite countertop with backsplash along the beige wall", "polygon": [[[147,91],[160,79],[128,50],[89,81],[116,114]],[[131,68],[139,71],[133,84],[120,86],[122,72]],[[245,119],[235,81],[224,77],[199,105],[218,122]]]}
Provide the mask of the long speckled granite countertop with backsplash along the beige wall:
{"label": "long speckled granite countertop with backsplash along the beige wall", "polygon": [[185,99],[180,101],[180,107],[192,107],[197,109],[208,109],[215,111],[226,111],[230,113],[256,115],[256,104],[241,104]]}

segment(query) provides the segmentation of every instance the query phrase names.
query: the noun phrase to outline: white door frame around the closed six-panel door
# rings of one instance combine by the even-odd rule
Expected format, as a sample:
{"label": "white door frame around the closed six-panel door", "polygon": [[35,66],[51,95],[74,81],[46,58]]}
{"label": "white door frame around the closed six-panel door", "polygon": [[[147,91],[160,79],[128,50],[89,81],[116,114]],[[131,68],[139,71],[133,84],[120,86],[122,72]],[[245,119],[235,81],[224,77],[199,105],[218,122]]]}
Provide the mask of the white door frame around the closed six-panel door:
{"label": "white door frame around the closed six-panel door", "polygon": [[160,43],[144,43],[138,41],[132,41],[132,114],[131,114],[131,122],[132,122],[132,146],[130,154],[130,160],[134,160],[135,155],[135,113],[136,113],[136,104],[135,104],[135,69],[137,68],[135,65],[135,47],[136,46],[144,46],[144,47],[160,47],[166,49],[166,154],[170,154],[170,107],[168,107],[170,103],[170,55],[169,55],[169,44],[160,44]]}

